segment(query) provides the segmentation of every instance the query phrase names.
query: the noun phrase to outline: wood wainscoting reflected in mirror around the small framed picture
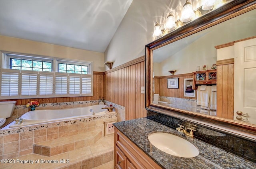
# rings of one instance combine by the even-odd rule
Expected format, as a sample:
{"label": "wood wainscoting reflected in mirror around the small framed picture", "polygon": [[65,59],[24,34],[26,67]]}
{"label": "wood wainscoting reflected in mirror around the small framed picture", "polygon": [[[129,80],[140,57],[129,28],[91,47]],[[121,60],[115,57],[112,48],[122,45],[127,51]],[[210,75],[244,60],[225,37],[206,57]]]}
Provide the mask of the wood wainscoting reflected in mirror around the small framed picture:
{"label": "wood wainscoting reflected in mirror around the small framed picture", "polygon": [[[177,78],[177,77],[179,78],[179,88],[167,88],[167,79]],[[184,96],[184,79],[186,78],[193,78],[193,73],[161,76],[161,77],[155,76],[154,77],[155,93],[158,93],[160,96],[196,99],[196,97]]]}

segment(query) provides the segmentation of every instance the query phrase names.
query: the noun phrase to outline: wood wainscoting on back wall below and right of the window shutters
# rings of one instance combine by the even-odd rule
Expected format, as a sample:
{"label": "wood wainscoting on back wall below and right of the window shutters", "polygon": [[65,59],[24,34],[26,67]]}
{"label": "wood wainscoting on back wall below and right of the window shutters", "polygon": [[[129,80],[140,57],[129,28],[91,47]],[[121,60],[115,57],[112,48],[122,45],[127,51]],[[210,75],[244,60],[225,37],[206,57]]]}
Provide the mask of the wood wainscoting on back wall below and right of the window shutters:
{"label": "wood wainscoting on back wall below and right of the window shutters", "polygon": [[36,100],[39,103],[78,102],[78,101],[86,101],[86,100],[98,100],[104,94],[103,72],[93,72],[93,84],[94,84],[93,96],[10,99],[10,100],[1,100],[1,101],[16,101],[16,105],[25,105],[31,100]]}

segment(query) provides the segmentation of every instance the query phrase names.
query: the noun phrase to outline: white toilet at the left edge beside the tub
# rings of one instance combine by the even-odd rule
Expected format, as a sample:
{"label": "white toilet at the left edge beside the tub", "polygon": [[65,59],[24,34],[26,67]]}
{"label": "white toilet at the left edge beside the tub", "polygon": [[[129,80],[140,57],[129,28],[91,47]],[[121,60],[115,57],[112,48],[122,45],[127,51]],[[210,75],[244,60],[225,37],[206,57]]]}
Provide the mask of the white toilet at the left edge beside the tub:
{"label": "white toilet at the left edge beside the tub", "polygon": [[6,118],[12,116],[16,101],[0,102],[0,127],[6,122]]}

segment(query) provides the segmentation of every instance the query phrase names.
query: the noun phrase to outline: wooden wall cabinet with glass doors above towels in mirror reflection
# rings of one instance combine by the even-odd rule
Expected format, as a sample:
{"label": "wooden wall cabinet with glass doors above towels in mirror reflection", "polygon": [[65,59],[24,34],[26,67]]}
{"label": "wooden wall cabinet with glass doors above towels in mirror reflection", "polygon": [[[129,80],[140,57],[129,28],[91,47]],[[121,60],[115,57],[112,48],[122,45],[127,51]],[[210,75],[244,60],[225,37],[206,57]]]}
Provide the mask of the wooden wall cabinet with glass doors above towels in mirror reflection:
{"label": "wooden wall cabinet with glass doors above towels in mirror reflection", "polygon": [[193,72],[193,89],[196,90],[197,85],[212,85],[217,83],[217,71],[197,71]]}

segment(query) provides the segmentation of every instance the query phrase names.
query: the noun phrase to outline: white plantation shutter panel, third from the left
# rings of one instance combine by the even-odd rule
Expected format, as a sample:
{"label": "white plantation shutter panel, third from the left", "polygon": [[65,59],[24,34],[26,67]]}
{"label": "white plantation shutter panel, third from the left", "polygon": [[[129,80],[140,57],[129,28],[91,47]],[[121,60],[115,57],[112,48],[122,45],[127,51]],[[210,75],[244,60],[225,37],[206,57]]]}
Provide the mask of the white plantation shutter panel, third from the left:
{"label": "white plantation shutter panel, third from the left", "polygon": [[40,73],[39,95],[53,96],[54,73]]}

